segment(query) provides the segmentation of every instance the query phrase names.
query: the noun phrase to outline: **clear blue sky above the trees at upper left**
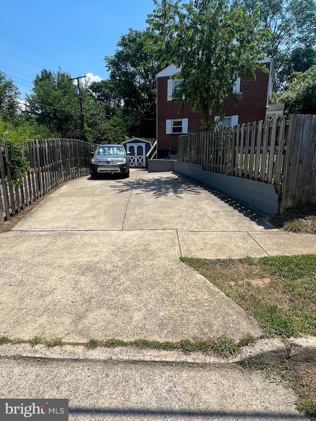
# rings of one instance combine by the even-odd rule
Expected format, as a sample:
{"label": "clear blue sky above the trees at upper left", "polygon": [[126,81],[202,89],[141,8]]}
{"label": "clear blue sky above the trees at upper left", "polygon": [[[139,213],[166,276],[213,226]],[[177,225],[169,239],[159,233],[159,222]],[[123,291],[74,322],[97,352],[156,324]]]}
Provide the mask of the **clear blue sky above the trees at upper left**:
{"label": "clear blue sky above the trees at upper left", "polygon": [[115,53],[129,28],[145,29],[154,8],[152,0],[6,0],[1,4],[0,71],[14,81],[22,99],[41,69],[60,66],[72,77],[106,79],[104,56]]}

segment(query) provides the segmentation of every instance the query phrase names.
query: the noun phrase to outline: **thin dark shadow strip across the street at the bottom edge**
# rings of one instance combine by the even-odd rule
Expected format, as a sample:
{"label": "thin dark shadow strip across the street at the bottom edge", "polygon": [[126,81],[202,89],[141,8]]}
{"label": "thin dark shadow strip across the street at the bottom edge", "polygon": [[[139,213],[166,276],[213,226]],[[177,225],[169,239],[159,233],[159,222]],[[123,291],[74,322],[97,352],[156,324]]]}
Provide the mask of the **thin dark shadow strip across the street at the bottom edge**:
{"label": "thin dark shadow strip across the street at the bottom edge", "polygon": [[[170,410],[170,409],[135,409],[135,408],[69,408],[69,414],[74,415],[108,415],[112,417],[168,417],[167,419],[172,419],[173,417],[181,417],[181,419],[190,419],[194,417],[196,420],[197,417],[200,419],[201,417],[207,417],[207,419],[218,420],[221,419],[229,419],[229,420],[307,420],[307,418],[302,414],[286,414],[282,412],[246,412],[246,411],[238,411],[238,412],[228,412],[228,411],[186,411],[186,410]],[[185,417],[185,418],[182,418]],[[144,418],[142,418],[144,419]]]}

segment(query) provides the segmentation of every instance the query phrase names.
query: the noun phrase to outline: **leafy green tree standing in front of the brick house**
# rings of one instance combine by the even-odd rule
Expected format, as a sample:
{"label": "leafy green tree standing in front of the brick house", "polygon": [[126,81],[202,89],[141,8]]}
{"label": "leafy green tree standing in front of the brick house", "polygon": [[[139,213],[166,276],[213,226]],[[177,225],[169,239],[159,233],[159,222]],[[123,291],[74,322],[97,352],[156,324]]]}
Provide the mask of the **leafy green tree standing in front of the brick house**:
{"label": "leafy green tree standing in front of the brick house", "polygon": [[232,81],[254,77],[257,68],[266,70],[260,58],[267,31],[260,30],[259,7],[247,13],[245,6],[230,8],[226,0],[154,3],[157,8],[147,19],[146,51],[162,67],[174,64],[180,69],[174,77],[183,80],[184,102],[201,109],[208,127],[209,115],[221,111]]}

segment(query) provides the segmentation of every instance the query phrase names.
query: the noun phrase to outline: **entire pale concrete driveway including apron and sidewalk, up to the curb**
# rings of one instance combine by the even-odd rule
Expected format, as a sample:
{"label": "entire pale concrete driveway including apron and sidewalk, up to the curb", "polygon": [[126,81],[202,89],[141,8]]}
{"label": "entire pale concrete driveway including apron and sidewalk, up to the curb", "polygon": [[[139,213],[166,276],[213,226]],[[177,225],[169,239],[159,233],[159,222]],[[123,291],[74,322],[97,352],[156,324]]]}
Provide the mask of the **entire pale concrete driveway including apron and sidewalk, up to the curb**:
{"label": "entire pale concrete driveway including apron and sidewalk, up to the curb", "polygon": [[[0,335],[259,336],[257,322],[179,256],[274,254],[284,234],[271,228],[266,216],[171,173],[71,181],[0,234]],[[285,235],[282,253],[306,250]]]}

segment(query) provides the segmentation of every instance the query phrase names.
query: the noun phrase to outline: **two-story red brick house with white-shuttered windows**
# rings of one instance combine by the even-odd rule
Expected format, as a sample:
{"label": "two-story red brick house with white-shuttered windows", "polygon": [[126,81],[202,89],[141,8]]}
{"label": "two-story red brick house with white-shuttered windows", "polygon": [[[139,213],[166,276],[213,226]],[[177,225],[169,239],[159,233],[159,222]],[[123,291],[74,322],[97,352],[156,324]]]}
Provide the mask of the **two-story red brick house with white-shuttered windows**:
{"label": "two-story red brick house with white-shuttered windows", "polygon": [[[265,66],[269,73],[256,71],[256,79],[250,81],[238,78],[233,85],[233,92],[242,92],[242,99],[234,106],[234,95],[225,99],[222,113],[225,115],[223,125],[265,120],[268,116],[282,115],[281,109],[269,112],[272,93],[276,90],[274,66],[271,58],[266,57]],[[170,77],[178,73],[175,66],[168,66],[157,75],[157,143],[158,158],[167,158],[170,153],[177,153],[178,135],[193,133],[201,130],[201,120],[205,119],[201,113],[191,110],[185,104],[180,114],[180,96],[177,94],[177,85],[180,80]],[[284,107],[284,106],[283,106]],[[213,113],[210,119],[216,120],[219,116]]]}

